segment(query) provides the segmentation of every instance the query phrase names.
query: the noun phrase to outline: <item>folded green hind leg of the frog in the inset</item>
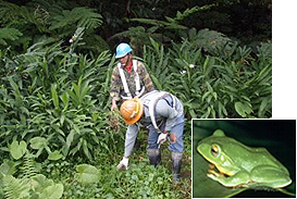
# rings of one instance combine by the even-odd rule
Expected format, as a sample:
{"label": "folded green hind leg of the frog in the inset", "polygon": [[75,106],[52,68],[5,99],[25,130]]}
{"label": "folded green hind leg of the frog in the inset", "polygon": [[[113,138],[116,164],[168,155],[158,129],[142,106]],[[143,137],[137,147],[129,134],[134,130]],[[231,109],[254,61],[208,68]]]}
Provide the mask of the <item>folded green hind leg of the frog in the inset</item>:
{"label": "folded green hind leg of the frog in the inset", "polygon": [[251,171],[250,177],[258,186],[268,186],[272,188],[285,187],[292,183],[286,170],[271,165],[256,166]]}

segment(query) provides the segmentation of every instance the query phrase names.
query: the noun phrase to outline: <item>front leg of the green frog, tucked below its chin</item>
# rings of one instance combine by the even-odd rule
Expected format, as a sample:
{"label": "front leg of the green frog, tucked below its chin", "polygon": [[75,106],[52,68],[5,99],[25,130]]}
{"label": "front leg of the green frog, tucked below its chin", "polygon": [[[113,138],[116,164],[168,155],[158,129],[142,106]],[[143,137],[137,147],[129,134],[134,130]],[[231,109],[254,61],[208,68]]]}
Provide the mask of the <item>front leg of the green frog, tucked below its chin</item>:
{"label": "front leg of the green frog, tucked below its chin", "polygon": [[232,176],[215,175],[213,173],[208,174],[208,177],[221,183],[225,187],[239,187],[250,182],[250,176],[247,171],[240,171]]}

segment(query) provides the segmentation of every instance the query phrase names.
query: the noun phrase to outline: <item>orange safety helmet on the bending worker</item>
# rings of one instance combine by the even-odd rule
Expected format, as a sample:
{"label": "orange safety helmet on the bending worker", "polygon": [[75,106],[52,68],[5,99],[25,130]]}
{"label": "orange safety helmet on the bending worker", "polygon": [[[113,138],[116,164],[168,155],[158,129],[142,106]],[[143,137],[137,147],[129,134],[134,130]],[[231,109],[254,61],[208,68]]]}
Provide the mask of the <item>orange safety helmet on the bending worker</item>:
{"label": "orange safety helmet on the bending worker", "polygon": [[135,124],[144,113],[143,101],[138,98],[126,100],[122,103],[120,112],[126,124]]}

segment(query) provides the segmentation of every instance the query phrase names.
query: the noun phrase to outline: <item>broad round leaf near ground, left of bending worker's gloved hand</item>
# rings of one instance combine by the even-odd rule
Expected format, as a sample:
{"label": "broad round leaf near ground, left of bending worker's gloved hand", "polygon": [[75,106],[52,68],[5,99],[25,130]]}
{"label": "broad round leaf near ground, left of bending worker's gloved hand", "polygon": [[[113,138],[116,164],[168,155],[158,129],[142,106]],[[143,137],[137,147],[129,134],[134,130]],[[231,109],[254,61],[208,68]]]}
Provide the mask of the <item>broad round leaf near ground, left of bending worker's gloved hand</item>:
{"label": "broad round leaf near ground, left of bending worker's gloved hand", "polygon": [[79,164],[76,166],[75,178],[83,184],[97,183],[99,181],[99,170],[89,164]]}

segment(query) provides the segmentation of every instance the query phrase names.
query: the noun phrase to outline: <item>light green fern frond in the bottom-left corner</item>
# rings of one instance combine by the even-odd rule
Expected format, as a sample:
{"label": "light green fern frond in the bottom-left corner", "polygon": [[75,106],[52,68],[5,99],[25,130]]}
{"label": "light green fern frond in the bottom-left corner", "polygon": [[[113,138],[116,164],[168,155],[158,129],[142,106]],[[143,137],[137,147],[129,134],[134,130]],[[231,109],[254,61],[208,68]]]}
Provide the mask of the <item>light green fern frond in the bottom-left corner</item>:
{"label": "light green fern frond in the bottom-left corner", "polygon": [[30,185],[28,182],[29,179],[20,179],[12,175],[5,175],[2,178],[4,198],[29,198]]}

